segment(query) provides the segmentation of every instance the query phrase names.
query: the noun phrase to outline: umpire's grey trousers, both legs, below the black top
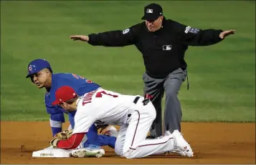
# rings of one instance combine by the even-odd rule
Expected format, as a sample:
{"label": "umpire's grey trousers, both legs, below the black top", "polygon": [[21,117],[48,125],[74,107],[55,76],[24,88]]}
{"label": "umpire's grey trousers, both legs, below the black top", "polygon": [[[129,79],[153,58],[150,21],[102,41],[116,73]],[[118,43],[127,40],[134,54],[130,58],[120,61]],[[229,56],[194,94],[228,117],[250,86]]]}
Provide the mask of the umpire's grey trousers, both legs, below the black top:
{"label": "umpire's grey trousers, both legs, below the black top", "polygon": [[[162,136],[163,132],[170,131],[171,133],[178,129],[181,131],[181,104],[178,99],[179,89],[181,84],[186,79],[186,70],[176,69],[164,79],[153,79],[148,74],[143,74],[144,94],[153,96],[151,101],[156,108],[156,119],[151,127],[151,135],[158,137]],[[161,100],[163,93],[166,94],[164,122],[162,132],[162,109]]]}

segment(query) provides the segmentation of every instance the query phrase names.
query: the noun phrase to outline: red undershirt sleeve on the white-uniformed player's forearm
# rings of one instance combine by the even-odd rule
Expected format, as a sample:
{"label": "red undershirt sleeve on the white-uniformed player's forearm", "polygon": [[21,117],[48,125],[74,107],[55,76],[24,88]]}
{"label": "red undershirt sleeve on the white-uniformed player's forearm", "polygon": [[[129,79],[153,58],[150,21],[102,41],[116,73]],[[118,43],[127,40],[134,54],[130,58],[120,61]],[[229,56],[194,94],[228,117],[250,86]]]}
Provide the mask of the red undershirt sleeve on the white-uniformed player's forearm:
{"label": "red undershirt sleeve on the white-uniformed player's forearm", "polygon": [[60,140],[57,143],[57,148],[59,149],[76,149],[81,143],[85,133],[72,134],[72,136],[67,140]]}

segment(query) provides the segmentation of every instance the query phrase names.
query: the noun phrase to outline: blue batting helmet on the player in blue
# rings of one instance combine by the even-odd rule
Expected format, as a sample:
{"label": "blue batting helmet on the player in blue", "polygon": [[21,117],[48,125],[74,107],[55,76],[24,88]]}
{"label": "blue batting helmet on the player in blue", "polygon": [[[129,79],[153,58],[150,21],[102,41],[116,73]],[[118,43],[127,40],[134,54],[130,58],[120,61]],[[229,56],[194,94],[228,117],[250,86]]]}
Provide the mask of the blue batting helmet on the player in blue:
{"label": "blue batting helmet on the player in blue", "polygon": [[27,66],[28,74],[27,74],[26,78],[28,78],[32,74],[36,74],[37,72],[41,71],[44,68],[47,68],[47,69],[49,69],[49,71],[52,72],[52,68],[49,65],[49,62],[46,61],[45,59],[35,59],[35,60],[31,61],[29,63],[29,65]]}

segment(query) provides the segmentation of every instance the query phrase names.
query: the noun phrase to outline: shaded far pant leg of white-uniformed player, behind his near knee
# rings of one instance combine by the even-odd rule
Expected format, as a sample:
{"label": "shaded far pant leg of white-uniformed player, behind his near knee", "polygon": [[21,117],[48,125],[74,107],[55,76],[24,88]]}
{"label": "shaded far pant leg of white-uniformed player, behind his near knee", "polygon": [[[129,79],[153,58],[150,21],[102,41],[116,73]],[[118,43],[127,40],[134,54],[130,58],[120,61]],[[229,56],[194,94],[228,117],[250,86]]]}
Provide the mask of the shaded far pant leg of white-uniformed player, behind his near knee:
{"label": "shaded far pant leg of white-uniformed player, behind his near knee", "polygon": [[118,156],[123,156],[123,144],[125,143],[125,134],[128,129],[128,124],[120,126],[118,131],[118,136],[115,141],[115,154]]}

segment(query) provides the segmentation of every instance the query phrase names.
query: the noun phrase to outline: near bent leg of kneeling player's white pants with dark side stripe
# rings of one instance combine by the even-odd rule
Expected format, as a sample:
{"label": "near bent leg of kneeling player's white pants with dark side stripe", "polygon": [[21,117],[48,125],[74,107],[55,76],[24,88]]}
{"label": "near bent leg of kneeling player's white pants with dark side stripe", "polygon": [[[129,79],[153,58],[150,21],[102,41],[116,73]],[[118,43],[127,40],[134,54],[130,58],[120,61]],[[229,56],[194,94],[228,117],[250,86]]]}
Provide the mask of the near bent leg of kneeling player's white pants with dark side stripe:
{"label": "near bent leg of kneeling player's white pants with dark side stripe", "polygon": [[138,106],[138,110],[133,112],[123,146],[125,158],[141,158],[174,149],[172,135],[164,136],[161,139],[146,140],[148,131],[155,118],[156,110],[151,102],[146,106]]}

